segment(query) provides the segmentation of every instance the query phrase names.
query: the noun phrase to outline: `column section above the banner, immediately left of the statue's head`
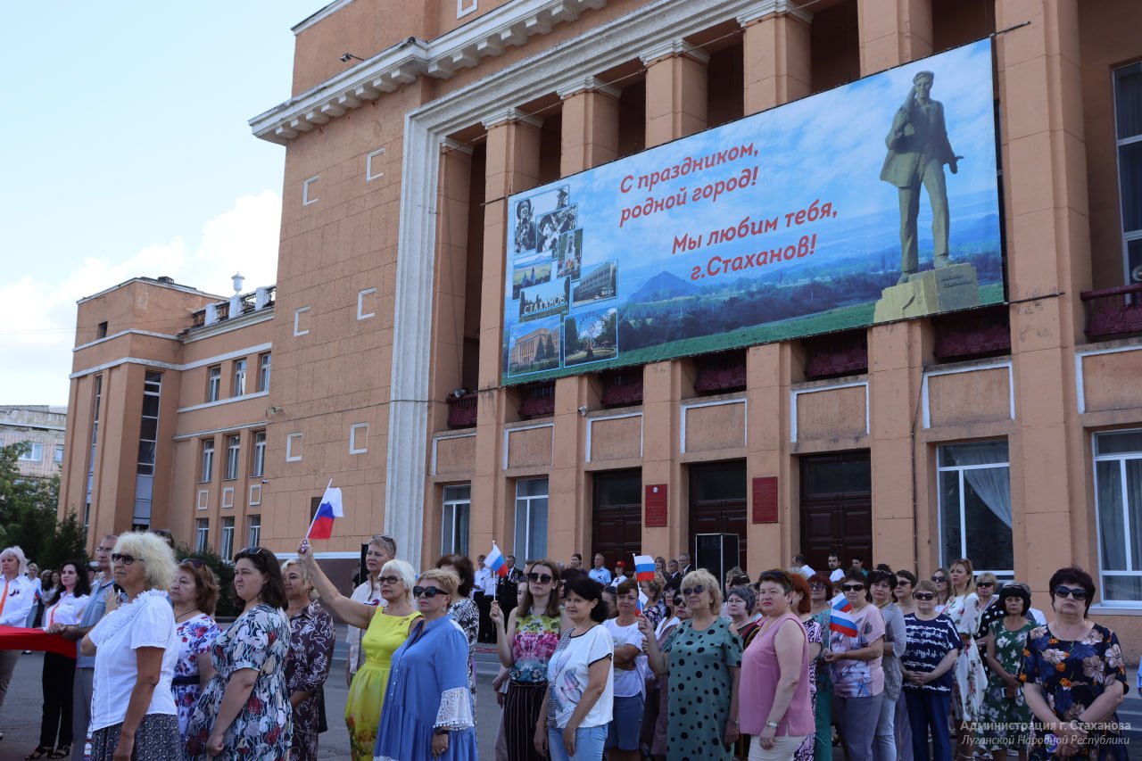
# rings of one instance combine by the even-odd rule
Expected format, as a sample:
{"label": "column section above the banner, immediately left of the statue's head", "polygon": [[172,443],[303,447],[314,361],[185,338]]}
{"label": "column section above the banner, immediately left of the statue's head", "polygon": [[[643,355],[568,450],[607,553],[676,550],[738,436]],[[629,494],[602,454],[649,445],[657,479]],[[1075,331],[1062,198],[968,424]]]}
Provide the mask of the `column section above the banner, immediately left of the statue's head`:
{"label": "column section above the banner, immediately left of the statue's head", "polygon": [[858,0],[860,74],[932,55],[932,0]]}

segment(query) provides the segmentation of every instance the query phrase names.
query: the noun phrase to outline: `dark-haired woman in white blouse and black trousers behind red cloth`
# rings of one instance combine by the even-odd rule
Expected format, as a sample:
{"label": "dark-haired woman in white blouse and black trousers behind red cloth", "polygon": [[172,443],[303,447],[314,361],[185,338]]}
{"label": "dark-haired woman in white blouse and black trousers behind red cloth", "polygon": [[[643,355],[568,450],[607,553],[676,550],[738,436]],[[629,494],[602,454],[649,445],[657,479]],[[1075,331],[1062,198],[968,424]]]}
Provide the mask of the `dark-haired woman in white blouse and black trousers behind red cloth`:
{"label": "dark-haired woman in white blouse and black trousers behind red cloth", "polygon": [[[58,634],[64,626],[78,624],[91,599],[91,585],[79,561],[69,560],[59,569],[62,591],[43,611],[43,630]],[[40,721],[40,745],[27,759],[48,754],[53,759],[71,755],[72,687],[75,682],[75,658],[58,652],[43,654],[43,719]],[[58,744],[57,740],[58,739]]]}

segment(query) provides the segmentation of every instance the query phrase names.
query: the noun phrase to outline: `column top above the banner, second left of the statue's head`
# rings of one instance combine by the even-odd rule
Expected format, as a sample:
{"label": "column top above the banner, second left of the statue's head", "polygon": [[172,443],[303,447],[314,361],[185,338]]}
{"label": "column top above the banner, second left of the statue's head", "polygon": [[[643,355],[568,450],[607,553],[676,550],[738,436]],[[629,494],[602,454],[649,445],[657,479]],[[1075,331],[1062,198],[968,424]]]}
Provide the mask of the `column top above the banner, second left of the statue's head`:
{"label": "column top above the banner, second left of the statue's head", "polygon": [[810,37],[813,15],[779,0],[759,3],[738,16],[745,27],[746,114],[809,95]]}

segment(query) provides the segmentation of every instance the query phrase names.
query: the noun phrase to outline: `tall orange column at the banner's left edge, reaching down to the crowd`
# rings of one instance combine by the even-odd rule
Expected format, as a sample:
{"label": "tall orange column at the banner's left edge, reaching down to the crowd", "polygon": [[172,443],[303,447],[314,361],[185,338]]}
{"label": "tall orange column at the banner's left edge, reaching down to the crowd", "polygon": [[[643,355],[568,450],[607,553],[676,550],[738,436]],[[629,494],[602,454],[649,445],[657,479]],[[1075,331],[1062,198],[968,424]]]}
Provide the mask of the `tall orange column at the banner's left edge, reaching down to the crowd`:
{"label": "tall orange column at the banner's left edge, reaching down to the crowd", "polygon": [[539,126],[536,119],[508,110],[484,120],[488,130],[484,183],[484,272],[480,314],[480,402],[476,458],[472,480],[472,545],[504,554],[512,551],[510,495],[504,479],[505,422],[515,419],[513,395],[500,385],[504,343],[504,251],[507,197],[539,184]]}

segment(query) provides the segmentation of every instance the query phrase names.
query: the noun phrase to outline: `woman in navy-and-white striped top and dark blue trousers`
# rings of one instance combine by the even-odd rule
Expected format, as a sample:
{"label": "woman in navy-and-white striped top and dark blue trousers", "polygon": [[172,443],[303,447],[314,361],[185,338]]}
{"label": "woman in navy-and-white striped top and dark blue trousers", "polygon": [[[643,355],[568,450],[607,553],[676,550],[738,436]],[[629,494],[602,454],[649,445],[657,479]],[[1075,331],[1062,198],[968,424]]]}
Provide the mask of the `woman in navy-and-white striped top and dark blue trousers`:
{"label": "woman in navy-and-white striped top and dark blue trousers", "polygon": [[[935,609],[939,599],[935,582],[917,582],[912,599],[916,611],[904,616],[908,646],[900,659],[912,758],[951,761],[948,712],[955,688],[951,668],[959,656],[959,633],[951,620]],[[928,754],[928,731],[932,732],[932,755]]]}

